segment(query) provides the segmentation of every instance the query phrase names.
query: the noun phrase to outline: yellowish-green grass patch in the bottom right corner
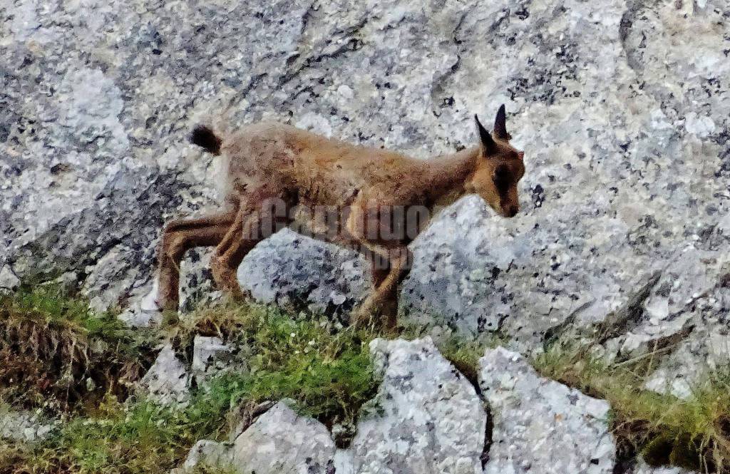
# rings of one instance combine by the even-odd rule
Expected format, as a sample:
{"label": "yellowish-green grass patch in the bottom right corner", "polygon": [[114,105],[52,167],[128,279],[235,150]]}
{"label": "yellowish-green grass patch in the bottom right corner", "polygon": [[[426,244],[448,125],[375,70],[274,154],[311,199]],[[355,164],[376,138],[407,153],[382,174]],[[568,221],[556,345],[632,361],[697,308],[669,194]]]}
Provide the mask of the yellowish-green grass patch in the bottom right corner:
{"label": "yellowish-green grass patch in the bottom right corner", "polygon": [[586,346],[558,342],[534,358],[548,378],[607,400],[619,458],[641,454],[653,466],[730,472],[730,377],[707,376],[686,400],[644,388],[651,358],[609,364]]}

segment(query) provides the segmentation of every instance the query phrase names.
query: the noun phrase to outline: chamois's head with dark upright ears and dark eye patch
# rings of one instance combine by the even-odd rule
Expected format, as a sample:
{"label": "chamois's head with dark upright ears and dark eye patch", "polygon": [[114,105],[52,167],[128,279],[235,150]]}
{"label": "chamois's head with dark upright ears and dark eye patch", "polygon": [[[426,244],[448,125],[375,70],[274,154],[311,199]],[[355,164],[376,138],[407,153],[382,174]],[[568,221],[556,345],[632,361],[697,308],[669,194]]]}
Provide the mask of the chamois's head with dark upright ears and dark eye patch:
{"label": "chamois's head with dark upright ears and dark eye patch", "polygon": [[499,107],[493,134],[474,116],[479,131],[480,156],[467,188],[479,194],[493,210],[503,217],[514,217],[520,210],[517,183],[525,174],[525,153],[510,145],[512,138],[504,123],[504,104]]}

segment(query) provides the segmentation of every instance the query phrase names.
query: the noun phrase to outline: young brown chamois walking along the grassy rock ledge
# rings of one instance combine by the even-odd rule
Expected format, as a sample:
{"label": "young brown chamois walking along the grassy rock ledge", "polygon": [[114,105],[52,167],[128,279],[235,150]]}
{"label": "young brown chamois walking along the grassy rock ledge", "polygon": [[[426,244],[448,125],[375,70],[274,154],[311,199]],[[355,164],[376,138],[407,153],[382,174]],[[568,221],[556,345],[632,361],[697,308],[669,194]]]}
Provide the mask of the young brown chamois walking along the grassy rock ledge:
{"label": "young brown chamois walking along the grassy rock ledge", "polygon": [[[226,208],[167,223],[158,251],[158,306],[177,310],[180,260],[198,246],[216,246],[215,282],[242,297],[236,278],[242,259],[260,240],[289,226],[364,253],[372,264],[374,290],[352,320],[366,323],[380,310],[383,322],[393,326],[397,287],[410,268],[407,245],[437,207],[473,193],[504,217],[518,213],[524,153],[510,145],[504,105],[493,134],[476,115],[475,121],[478,145],[428,161],[280,123],[245,126],[225,137],[197,126],[191,142],[223,160]],[[339,211],[334,226],[333,209]]]}

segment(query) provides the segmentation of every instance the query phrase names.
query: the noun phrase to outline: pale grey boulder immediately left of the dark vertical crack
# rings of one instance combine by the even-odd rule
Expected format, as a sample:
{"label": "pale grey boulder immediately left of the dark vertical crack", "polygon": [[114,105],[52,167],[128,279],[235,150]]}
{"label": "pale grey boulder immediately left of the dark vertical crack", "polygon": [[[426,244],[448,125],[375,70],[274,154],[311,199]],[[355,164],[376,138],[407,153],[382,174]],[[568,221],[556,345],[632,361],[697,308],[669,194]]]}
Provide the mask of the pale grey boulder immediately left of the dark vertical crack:
{"label": "pale grey boulder immediately left of the dark vertical crack", "polygon": [[481,473],[487,415],[430,337],[370,343],[383,378],[350,446],[353,473]]}

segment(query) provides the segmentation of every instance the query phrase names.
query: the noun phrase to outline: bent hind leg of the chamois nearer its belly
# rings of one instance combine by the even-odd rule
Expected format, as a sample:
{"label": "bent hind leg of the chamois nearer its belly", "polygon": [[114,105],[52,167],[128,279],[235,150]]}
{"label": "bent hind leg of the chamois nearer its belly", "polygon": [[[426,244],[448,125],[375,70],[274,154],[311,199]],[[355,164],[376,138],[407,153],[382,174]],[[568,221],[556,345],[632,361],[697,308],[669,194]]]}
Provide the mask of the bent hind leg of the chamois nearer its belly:
{"label": "bent hind leg of the chamois nearer its belly", "polygon": [[239,209],[211,261],[213,279],[219,288],[234,298],[244,297],[236,275],[241,261],[258,242],[275,232],[275,229],[266,229],[266,224],[286,223],[285,218],[286,213],[274,215],[272,210],[256,209],[255,206],[242,206]]}

